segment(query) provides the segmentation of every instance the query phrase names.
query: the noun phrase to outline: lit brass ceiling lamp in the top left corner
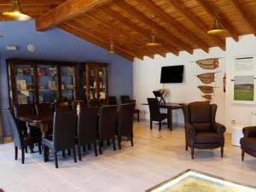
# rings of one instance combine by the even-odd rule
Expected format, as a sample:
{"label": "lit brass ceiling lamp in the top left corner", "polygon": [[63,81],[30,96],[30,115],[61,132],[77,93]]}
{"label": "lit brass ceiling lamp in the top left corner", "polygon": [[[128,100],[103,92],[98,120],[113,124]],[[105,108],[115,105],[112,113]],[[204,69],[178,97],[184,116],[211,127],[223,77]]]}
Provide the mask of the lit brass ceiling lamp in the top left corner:
{"label": "lit brass ceiling lamp in the top left corner", "polygon": [[2,13],[4,20],[13,21],[13,20],[32,20],[32,17],[29,15],[22,14],[20,8],[20,1],[14,0],[13,9]]}

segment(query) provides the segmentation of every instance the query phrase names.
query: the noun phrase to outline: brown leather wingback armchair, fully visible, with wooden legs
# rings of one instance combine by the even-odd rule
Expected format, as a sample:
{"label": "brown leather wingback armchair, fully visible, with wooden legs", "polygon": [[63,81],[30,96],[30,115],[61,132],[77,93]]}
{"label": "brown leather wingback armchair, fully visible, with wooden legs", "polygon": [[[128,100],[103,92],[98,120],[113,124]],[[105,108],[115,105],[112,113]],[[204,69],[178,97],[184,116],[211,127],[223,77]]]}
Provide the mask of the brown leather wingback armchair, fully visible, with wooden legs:
{"label": "brown leather wingback armchair, fully visible, with wooden legs", "polygon": [[191,102],[183,105],[186,150],[188,147],[191,148],[192,160],[195,148],[221,148],[221,157],[223,157],[226,128],[215,122],[216,111],[217,105],[207,102]]}

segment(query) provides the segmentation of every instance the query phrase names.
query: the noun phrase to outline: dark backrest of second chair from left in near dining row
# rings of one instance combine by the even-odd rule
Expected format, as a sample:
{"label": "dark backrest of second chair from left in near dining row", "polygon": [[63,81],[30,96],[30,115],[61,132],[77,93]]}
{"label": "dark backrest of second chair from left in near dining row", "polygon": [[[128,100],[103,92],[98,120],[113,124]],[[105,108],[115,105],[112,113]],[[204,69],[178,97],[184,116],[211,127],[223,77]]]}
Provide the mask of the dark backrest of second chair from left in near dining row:
{"label": "dark backrest of second chair from left in near dining row", "polygon": [[78,119],[79,145],[96,143],[99,108],[81,108]]}

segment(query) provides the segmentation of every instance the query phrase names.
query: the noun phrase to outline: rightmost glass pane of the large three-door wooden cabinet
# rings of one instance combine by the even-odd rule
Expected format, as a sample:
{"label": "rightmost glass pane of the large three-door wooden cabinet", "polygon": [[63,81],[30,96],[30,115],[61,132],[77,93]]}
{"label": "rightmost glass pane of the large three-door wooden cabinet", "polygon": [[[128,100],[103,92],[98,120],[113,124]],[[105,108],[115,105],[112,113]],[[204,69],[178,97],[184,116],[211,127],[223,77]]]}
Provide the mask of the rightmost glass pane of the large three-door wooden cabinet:
{"label": "rightmost glass pane of the large three-door wooden cabinet", "polygon": [[65,102],[75,100],[75,68],[61,67],[61,92]]}

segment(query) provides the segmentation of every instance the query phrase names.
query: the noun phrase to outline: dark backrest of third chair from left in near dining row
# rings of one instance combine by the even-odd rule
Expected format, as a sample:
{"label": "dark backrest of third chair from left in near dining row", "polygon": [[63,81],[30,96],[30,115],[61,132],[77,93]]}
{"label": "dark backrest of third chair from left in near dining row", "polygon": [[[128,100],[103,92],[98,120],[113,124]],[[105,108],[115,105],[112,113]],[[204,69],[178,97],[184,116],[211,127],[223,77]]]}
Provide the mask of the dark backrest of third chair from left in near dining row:
{"label": "dark backrest of third chair from left in near dining row", "polygon": [[101,108],[99,119],[99,137],[101,140],[114,137],[117,108],[117,105],[108,105]]}

